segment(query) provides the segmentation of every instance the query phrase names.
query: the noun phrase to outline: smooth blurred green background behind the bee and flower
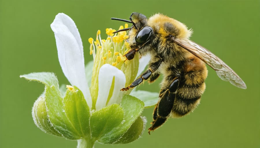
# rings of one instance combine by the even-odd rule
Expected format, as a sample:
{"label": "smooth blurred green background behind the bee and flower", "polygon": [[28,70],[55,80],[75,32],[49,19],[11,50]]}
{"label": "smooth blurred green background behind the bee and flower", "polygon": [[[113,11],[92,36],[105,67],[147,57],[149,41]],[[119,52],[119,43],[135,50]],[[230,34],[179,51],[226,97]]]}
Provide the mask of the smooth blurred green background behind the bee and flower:
{"label": "smooth blurred green background behind the bee and flower", "polygon": [[[31,72],[56,73],[60,84],[68,84],[60,68],[50,24],[59,12],[73,18],[83,40],[85,62],[89,37],[105,28],[118,29],[132,12],[146,16],[163,13],[192,28],[191,39],[218,55],[245,81],[247,89],[237,88],[218,78],[209,69],[206,91],[199,107],[180,119],[128,145],[99,147],[260,147],[259,98],[259,0],[221,1],[0,1],[0,147],[75,148],[76,141],[45,134],[31,117],[31,108],[43,92],[40,83],[20,79]],[[138,89],[159,92],[159,82]],[[153,109],[145,109],[147,129]]]}

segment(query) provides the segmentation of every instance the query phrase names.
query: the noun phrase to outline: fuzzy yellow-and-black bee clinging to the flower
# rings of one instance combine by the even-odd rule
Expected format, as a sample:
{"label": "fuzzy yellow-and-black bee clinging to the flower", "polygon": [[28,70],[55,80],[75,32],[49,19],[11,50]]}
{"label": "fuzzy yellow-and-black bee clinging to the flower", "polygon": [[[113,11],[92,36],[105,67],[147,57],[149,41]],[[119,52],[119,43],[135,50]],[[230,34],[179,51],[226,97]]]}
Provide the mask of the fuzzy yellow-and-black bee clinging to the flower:
{"label": "fuzzy yellow-and-black bee clinging to the flower", "polygon": [[128,42],[131,50],[124,56],[131,60],[136,53],[141,56],[150,54],[148,70],[140,75],[128,87],[130,88],[148,80],[154,82],[163,75],[159,100],[153,111],[152,126],[154,131],[170,117],[178,118],[193,111],[200,103],[200,96],[205,91],[205,79],[208,71],[205,65],[213,68],[218,77],[229,81],[234,86],[246,89],[244,81],[220,58],[189,38],[192,30],[185,24],[162,14],[146,18],[143,14],[133,12],[129,20],[111,18],[131,23]]}

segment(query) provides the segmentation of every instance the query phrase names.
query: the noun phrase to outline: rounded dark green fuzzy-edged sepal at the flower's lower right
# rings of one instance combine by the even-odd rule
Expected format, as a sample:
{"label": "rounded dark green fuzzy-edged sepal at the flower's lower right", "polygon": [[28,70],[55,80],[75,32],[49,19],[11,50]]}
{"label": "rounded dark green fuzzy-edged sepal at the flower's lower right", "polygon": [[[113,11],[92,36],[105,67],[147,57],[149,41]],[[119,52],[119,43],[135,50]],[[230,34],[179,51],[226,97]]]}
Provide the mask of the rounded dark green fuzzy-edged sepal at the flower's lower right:
{"label": "rounded dark green fuzzy-edged sepal at the flower's lower right", "polygon": [[145,117],[137,117],[127,132],[114,144],[127,144],[140,138],[141,134],[144,132],[146,122]]}

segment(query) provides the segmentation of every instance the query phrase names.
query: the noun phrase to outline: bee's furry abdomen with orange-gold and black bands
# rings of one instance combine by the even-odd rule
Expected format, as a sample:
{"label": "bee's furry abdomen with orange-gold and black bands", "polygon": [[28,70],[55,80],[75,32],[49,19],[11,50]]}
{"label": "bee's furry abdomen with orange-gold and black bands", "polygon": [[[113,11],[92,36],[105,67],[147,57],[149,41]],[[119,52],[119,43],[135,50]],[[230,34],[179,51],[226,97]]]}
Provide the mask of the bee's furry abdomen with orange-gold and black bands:
{"label": "bee's furry abdomen with orange-gold and black bands", "polygon": [[200,96],[205,91],[204,83],[207,68],[198,58],[190,58],[182,71],[179,88],[172,108],[172,117],[181,117],[193,111],[200,103]]}

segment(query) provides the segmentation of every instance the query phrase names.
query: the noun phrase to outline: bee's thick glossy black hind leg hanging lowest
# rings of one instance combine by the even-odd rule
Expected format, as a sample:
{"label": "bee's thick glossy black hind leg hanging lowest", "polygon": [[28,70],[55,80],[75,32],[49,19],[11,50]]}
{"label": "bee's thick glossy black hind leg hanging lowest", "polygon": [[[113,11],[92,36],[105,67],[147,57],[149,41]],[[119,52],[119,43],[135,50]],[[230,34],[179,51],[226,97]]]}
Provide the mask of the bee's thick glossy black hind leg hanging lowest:
{"label": "bee's thick glossy black hind leg hanging lowest", "polygon": [[150,131],[154,131],[155,129],[159,128],[164,122],[166,122],[167,117],[170,115],[175,96],[176,91],[179,86],[179,77],[176,77],[173,82],[170,84],[168,89],[161,91],[159,95],[159,103],[156,105],[153,113],[153,119],[152,126],[148,129],[149,134]]}

